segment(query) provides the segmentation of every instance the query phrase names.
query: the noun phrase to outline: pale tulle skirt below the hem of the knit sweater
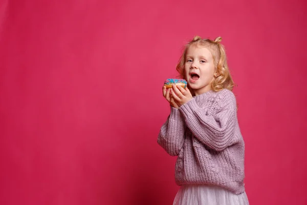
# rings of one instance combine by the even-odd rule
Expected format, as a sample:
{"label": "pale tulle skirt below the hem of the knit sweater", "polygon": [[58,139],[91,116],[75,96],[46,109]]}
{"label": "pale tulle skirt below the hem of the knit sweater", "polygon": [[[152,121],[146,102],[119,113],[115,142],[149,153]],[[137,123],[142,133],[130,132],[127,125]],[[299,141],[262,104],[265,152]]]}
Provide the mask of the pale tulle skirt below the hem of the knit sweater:
{"label": "pale tulle skirt below the hem of the knit sweater", "polygon": [[183,185],[173,205],[249,205],[246,192],[234,194],[217,186]]}

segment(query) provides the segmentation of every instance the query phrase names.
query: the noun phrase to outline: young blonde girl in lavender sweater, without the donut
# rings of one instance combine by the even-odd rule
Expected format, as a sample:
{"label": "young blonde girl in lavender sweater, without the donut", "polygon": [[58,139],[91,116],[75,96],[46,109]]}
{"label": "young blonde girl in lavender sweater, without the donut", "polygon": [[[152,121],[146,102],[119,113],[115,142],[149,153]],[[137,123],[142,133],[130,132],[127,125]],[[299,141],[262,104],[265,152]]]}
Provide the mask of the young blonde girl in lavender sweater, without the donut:
{"label": "young blonde girl in lavender sweater, without the donut", "polygon": [[178,156],[175,177],[181,188],[173,204],[249,204],[243,182],[245,145],[221,40],[194,37],[177,65],[187,88],[163,87],[170,115],[158,144]]}

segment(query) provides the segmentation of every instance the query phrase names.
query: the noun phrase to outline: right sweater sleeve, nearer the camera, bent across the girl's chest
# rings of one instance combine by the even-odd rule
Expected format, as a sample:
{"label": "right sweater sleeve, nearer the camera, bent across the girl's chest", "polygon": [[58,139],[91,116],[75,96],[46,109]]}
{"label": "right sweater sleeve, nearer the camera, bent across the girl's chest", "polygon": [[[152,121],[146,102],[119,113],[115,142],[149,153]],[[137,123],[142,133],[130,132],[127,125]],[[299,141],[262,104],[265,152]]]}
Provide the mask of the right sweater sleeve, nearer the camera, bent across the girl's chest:
{"label": "right sweater sleeve, nearer the camera, bent across the girl's chest", "polygon": [[207,110],[199,107],[194,98],[179,108],[193,135],[216,151],[224,150],[235,140],[236,99],[231,91],[220,92],[213,103],[216,110],[214,115],[208,115]]}

